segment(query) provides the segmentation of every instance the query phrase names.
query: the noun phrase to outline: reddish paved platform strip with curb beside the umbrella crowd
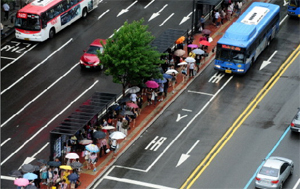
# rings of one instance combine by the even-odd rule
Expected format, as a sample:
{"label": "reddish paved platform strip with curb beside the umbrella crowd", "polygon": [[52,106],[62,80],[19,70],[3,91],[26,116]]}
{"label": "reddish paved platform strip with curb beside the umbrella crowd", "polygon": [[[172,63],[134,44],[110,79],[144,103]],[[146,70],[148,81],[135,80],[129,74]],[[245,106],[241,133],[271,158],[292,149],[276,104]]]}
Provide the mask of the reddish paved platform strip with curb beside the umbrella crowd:
{"label": "reddish paved platform strip with curb beside the umbrella crowd", "polygon": [[[254,1],[263,1],[266,0],[253,0]],[[250,1],[246,2],[243,5],[243,11],[246,10],[250,3]],[[225,23],[217,28],[216,26],[212,25],[210,22],[207,21],[207,24],[205,26],[205,29],[211,30],[210,36],[213,38],[213,41],[211,42],[211,46],[208,49],[209,56],[206,57],[204,60],[204,63],[202,62],[200,69],[196,76],[188,78],[187,81],[183,82],[183,75],[181,72],[177,75],[177,83],[175,84],[175,93],[172,94],[172,87],[169,87],[167,97],[164,98],[162,102],[157,102],[156,105],[152,104],[147,106],[147,100],[146,96],[143,96],[143,108],[141,111],[141,114],[136,118],[136,124],[135,127],[133,127],[131,123],[131,129],[128,130],[128,135],[124,140],[119,140],[119,149],[117,150],[115,157],[113,157],[113,152],[110,152],[101,158],[99,158],[96,167],[97,171],[93,172],[93,170],[87,170],[84,168],[81,168],[80,178],[81,186],[78,187],[78,189],[86,189],[91,188],[93,184],[97,181],[97,178],[101,177],[109,168],[110,166],[120,157],[126,150],[131,146],[135,140],[138,139],[138,136],[143,133],[148,127],[151,126],[151,124],[164,112],[166,108],[168,108],[174,100],[191,84],[191,82],[200,75],[200,73],[209,65],[210,62],[213,61],[215,57],[215,53],[212,53],[211,50],[216,46],[217,41],[222,37],[223,33],[226,31],[226,29],[236,20],[236,17],[233,17],[231,20],[226,20]],[[194,44],[199,45],[199,38],[201,37],[201,33],[197,33],[194,35]],[[185,50],[186,47],[185,47]],[[187,52],[187,51],[186,51]],[[81,154],[79,154],[81,155]],[[84,159],[81,157],[80,162],[84,162]],[[46,185],[41,185],[42,189],[46,189]]]}

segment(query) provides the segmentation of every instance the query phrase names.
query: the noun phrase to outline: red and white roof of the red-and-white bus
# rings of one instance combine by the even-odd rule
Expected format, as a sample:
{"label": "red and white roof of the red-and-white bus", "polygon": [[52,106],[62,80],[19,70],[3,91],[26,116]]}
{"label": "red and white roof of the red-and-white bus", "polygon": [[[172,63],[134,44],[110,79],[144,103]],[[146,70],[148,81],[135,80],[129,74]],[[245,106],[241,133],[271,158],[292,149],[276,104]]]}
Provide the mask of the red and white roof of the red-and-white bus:
{"label": "red and white roof of the red-and-white bus", "polygon": [[19,12],[41,15],[41,13],[45,12],[50,7],[56,5],[59,2],[61,2],[61,0],[34,0],[33,2],[20,9]]}

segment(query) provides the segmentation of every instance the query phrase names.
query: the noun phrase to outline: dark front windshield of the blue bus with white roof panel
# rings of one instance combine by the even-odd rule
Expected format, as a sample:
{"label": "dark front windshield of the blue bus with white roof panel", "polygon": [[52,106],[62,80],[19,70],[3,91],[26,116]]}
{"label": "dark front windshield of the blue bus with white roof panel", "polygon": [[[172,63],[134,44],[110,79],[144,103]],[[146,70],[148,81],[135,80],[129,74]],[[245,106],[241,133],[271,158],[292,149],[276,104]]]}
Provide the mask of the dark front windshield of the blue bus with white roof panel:
{"label": "dark front windshield of the blue bus with white roof panel", "polygon": [[217,59],[233,63],[245,63],[244,53],[231,49],[221,49],[217,52]]}

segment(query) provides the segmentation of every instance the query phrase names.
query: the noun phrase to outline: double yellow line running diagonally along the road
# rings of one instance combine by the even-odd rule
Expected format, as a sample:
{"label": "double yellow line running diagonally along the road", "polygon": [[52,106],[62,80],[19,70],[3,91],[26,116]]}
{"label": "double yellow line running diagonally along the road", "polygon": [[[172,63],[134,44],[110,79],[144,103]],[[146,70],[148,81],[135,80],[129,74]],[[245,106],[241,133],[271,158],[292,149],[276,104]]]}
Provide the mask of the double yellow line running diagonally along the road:
{"label": "double yellow line running diagonally along the road", "polygon": [[[235,120],[235,122],[230,126],[230,128],[226,131],[223,137],[217,142],[217,144],[211,149],[211,151],[207,154],[207,156],[202,160],[202,162],[197,166],[197,168],[193,171],[193,173],[188,177],[185,183],[180,187],[190,188],[194,182],[200,177],[203,171],[208,167],[214,157],[221,151],[221,149],[225,146],[225,144],[230,140],[236,130],[242,125],[242,123],[246,120],[246,118],[252,113],[252,111],[257,107],[257,104],[263,99],[263,97],[269,92],[269,90],[273,87],[273,85],[277,82],[280,76],[284,73],[284,71],[289,67],[289,65],[295,60],[295,58],[299,55],[300,45],[292,52],[292,54],[287,58],[287,60],[280,66],[278,71],[271,77],[271,79],[264,85],[264,87],[259,91],[256,97],[250,102],[250,104],[246,107],[243,113]],[[299,51],[299,52],[298,52]],[[297,53],[297,54],[296,54]],[[296,56],[295,56],[296,54]],[[290,62],[291,61],[291,62]]]}

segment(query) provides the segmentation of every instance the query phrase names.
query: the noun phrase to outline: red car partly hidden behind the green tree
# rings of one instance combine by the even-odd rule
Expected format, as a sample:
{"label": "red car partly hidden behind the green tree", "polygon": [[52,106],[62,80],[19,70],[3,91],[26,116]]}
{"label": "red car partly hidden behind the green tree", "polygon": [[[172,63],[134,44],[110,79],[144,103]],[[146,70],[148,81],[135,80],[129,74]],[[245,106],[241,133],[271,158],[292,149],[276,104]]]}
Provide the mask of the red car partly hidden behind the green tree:
{"label": "red car partly hidden behind the green tree", "polygon": [[80,58],[80,66],[81,68],[101,68],[103,69],[103,65],[100,64],[100,60],[97,56],[97,50],[99,50],[101,53],[103,52],[103,46],[101,44],[101,41],[103,44],[106,44],[105,39],[95,39],[87,50],[84,50],[84,54]]}

